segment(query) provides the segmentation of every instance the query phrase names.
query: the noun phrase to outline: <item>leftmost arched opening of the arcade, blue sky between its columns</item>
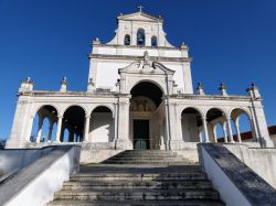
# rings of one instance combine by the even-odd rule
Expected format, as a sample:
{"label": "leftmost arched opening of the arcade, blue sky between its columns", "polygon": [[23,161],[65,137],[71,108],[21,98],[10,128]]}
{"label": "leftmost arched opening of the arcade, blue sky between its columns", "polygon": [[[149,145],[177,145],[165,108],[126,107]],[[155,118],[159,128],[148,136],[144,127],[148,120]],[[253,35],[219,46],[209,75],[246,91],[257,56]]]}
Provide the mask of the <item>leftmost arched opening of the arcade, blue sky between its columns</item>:
{"label": "leftmost arched opening of the arcade, blue sky between its columns", "polygon": [[57,110],[50,105],[42,106],[35,113],[32,132],[30,137],[31,142],[51,142],[55,139],[57,122]]}

